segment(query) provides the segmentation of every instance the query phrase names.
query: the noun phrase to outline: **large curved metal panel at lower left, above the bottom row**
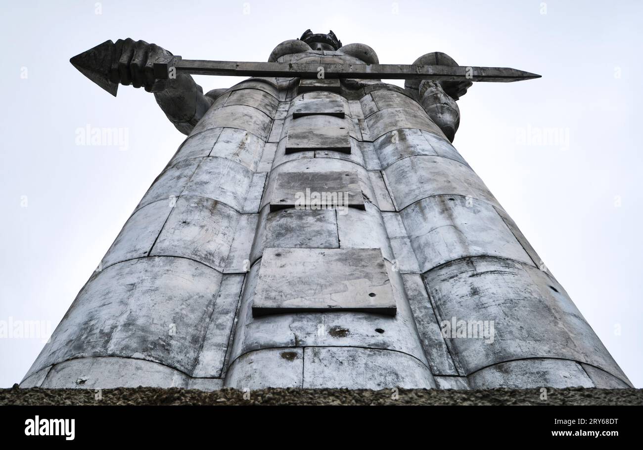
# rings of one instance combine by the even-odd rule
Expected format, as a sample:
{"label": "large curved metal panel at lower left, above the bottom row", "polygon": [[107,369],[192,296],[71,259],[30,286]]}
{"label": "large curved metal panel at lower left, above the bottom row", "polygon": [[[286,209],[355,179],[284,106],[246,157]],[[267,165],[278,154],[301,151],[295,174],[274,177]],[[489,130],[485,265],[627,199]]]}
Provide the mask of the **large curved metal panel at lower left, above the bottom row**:
{"label": "large curved metal panel at lower left, above the bottom row", "polygon": [[[186,258],[146,257],[96,273],[29,374],[66,359],[120,356],[194,368],[221,273]],[[145,380],[140,375],[139,384]]]}

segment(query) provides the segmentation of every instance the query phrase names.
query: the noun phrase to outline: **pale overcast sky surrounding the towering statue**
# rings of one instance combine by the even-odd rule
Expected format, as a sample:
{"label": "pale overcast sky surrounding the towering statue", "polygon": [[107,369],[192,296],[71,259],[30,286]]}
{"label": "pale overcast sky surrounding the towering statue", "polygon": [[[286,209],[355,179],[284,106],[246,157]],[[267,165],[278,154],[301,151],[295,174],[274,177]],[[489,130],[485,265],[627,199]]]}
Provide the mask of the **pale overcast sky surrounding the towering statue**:
{"label": "pale overcast sky surrounding the towering statue", "polygon": [[[629,379],[643,387],[640,1],[21,1],[3,3],[0,321],[51,329],[183,141],[143,89],[118,98],[69,58],[107,39],[194,59],[265,61],[333,30],[380,62],[443,51],[543,78],[476,83],[455,146],[518,223]],[[230,77],[196,77],[204,91]],[[395,82],[402,84],[402,82]],[[119,128],[118,145],[77,145]],[[539,141],[538,136],[548,139]],[[0,338],[0,387],[40,338]]]}

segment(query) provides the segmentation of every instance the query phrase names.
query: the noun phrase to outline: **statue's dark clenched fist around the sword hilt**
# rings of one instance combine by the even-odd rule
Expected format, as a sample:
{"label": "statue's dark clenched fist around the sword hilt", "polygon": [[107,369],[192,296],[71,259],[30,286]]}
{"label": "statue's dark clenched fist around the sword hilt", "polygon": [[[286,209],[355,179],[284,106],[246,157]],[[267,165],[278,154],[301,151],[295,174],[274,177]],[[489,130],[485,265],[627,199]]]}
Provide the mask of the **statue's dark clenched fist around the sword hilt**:
{"label": "statue's dark clenched fist around the sword hilt", "polygon": [[114,44],[112,65],[109,78],[114,83],[132,85],[136,88],[145,87],[147,92],[165,91],[174,80],[159,80],[154,78],[154,61],[159,56],[172,55],[166,49],[156,44],[148,44],[144,40],[119,39]]}

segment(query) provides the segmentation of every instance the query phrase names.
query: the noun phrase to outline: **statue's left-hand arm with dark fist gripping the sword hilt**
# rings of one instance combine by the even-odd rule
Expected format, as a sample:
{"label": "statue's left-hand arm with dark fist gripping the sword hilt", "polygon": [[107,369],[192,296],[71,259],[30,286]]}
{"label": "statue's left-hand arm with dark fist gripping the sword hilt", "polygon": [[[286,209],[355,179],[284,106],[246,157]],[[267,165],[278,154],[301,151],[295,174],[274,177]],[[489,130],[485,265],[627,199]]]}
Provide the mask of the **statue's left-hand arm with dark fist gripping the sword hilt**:
{"label": "statue's left-hand arm with dark fist gripping the sword hilt", "polygon": [[114,83],[144,87],[154,92],[156,103],[170,122],[183,134],[190,134],[192,128],[212,105],[216,96],[210,91],[203,94],[192,76],[177,73],[176,78],[158,80],[152,70],[154,61],[163,55],[171,55],[156,44],[143,40],[119,39],[111,65],[110,78]]}

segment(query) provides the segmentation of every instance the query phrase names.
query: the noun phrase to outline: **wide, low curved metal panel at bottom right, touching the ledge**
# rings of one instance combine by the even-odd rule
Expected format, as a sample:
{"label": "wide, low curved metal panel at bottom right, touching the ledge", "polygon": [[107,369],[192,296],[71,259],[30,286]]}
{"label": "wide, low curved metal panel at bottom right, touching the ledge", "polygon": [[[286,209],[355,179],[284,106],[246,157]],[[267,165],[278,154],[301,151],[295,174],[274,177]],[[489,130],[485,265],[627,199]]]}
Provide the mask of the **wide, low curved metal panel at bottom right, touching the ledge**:
{"label": "wide, low curved metal panel at bottom right, touching the ledge", "polygon": [[473,389],[594,387],[579,363],[552,358],[508,361],[478,370],[468,379]]}

